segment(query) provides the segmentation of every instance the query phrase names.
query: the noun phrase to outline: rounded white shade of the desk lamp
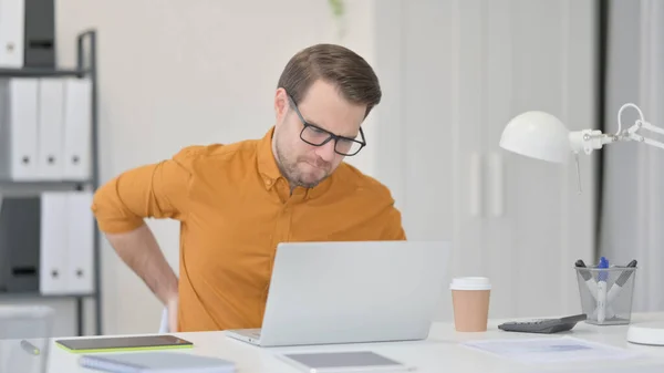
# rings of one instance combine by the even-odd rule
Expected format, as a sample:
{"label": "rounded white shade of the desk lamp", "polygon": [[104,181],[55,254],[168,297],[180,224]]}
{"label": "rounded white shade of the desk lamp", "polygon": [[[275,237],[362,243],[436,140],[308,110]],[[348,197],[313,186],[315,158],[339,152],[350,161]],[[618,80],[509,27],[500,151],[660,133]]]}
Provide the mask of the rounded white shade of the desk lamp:
{"label": "rounded white shade of the desk lamp", "polygon": [[526,112],[509,121],[500,136],[500,147],[527,157],[566,163],[572,153],[569,134],[556,116]]}

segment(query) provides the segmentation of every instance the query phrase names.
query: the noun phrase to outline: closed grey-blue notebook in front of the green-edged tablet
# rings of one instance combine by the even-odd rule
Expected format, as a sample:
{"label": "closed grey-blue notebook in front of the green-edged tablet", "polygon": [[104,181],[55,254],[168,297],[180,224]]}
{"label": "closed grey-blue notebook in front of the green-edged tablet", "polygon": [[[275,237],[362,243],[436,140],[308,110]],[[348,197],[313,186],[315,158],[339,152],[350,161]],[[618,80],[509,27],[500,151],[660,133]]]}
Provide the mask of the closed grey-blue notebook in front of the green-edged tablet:
{"label": "closed grey-blue notebook in front of the green-edged tablet", "polygon": [[230,373],[236,365],[228,360],[177,352],[139,352],[83,355],[79,365],[112,373]]}

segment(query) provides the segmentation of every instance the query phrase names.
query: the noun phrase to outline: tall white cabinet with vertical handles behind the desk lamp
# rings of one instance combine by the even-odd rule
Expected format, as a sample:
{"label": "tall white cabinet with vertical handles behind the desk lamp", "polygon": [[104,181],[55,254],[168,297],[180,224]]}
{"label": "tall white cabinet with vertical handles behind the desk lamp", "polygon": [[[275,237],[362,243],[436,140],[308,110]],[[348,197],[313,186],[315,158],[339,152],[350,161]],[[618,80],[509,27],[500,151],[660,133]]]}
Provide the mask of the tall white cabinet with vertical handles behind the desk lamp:
{"label": "tall white cabinet with vertical handles behind the desk lamp", "polygon": [[[579,195],[573,165],[498,143],[529,110],[596,127],[594,1],[381,4],[377,66],[396,76],[398,96],[381,112],[376,170],[400,197],[409,238],[452,240],[449,277],[490,277],[492,317],[580,311],[572,266],[593,259],[594,158],[581,158]],[[442,297],[438,315],[448,320]]]}

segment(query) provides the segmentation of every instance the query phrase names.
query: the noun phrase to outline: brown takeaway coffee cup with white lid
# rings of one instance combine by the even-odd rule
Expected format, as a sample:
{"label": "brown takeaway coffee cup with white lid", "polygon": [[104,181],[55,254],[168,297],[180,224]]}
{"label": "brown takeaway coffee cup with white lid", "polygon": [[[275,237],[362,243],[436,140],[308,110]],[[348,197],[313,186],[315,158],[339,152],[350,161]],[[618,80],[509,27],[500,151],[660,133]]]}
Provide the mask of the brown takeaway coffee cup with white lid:
{"label": "brown takeaway coffee cup with white lid", "polygon": [[454,325],[458,332],[484,332],[489,319],[491,283],[486,277],[460,277],[452,280]]}

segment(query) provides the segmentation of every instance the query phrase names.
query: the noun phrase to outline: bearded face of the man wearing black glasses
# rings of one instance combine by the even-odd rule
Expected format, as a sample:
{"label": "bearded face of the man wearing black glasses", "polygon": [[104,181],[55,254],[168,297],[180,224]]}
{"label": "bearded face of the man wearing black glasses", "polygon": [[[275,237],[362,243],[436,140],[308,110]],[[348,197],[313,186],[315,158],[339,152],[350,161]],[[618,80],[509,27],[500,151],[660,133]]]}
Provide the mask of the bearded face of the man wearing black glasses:
{"label": "bearded face of the man wearing black glasses", "polygon": [[[359,137],[360,125],[364,120],[366,105],[347,102],[332,84],[321,80],[317,81],[311,85],[303,100],[295,104],[308,124],[339,136],[361,139]],[[277,91],[274,108],[277,125],[272,151],[281,173],[291,184],[291,188],[317,186],[336,169],[345,156],[334,151],[334,139],[322,146],[314,146],[302,141],[300,134],[304,128],[304,123],[295,108],[289,104],[288,93],[282,89]],[[313,126],[307,128],[304,137],[314,144],[326,139],[328,134]],[[340,142],[336,149],[343,153],[342,147],[343,144]]]}

